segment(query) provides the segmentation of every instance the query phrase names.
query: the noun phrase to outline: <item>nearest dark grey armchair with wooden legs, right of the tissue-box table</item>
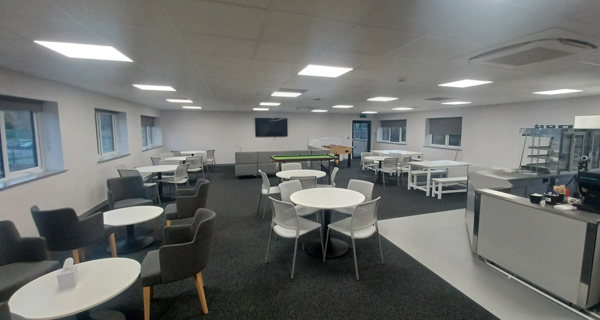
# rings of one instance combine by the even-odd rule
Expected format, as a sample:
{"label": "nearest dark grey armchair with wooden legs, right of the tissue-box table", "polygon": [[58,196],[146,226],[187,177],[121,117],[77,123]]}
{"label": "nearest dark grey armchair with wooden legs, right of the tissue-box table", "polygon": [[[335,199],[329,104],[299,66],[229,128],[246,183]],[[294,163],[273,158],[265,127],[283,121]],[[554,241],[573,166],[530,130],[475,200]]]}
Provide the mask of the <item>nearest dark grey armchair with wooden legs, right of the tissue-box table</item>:
{"label": "nearest dark grey armchair with wooden legs, right of the tissue-box table", "polygon": [[215,216],[214,211],[200,208],[192,224],[165,227],[164,245],[146,254],[141,270],[145,320],[150,319],[152,287],[188,277],[194,277],[202,312],[208,313],[202,270],[208,262]]}

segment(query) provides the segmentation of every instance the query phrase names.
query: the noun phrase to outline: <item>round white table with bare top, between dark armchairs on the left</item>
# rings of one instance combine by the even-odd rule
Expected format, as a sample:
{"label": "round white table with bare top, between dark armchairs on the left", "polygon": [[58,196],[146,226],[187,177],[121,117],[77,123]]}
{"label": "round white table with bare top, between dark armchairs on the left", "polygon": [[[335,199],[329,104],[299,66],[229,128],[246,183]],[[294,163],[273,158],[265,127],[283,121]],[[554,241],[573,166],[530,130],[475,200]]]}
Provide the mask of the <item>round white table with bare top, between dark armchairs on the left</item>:
{"label": "round white table with bare top, between dark armchairs on the left", "polygon": [[157,206],[126,207],[104,212],[104,224],[115,227],[127,227],[127,237],[125,240],[117,242],[117,252],[129,253],[139,251],[151,245],[154,242],[154,238],[136,236],[133,225],[152,220],[162,213],[163,208]]}

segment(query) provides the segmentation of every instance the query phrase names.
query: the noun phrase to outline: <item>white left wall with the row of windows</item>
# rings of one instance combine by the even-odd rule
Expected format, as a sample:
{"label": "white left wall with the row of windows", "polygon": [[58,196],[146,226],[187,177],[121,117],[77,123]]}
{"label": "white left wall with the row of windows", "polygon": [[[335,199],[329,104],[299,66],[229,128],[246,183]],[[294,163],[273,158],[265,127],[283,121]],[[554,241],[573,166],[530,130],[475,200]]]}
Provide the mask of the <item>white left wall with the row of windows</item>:
{"label": "white left wall with the row of windows", "polygon": [[[32,205],[72,207],[81,214],[106,200],[106,179],[117,176],[117,165],[149,165],[150,155],[160,152],[141,150],[140,115],[158,116],[156,109],[5,69],[0,69],[0,94],[58,103],[67,171],[0,190],[0,220],[15,222],[22,235],[37,234],[29,212]],[[94,108],[127,113],[129,156],[98,163]]]}

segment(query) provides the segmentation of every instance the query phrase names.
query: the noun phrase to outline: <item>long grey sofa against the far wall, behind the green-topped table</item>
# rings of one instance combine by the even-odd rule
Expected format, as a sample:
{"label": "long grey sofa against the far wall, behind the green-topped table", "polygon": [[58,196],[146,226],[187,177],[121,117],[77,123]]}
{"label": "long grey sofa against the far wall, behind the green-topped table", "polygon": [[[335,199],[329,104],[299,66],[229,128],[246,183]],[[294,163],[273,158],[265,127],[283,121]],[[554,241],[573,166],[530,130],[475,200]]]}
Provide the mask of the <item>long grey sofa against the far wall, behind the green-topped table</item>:
{"label": "long grey sofa against the far wall, behind the green-topped table", "polygon": [[[271,161],[273,155],[329,154],[329,149],[306,149],[286,151],[243,151],[235,153],[235,175],[258,176],[260,169],[266,174],[277,172],[277,163]],[[318,162],[302,162],[303,168],[319,169]]]}

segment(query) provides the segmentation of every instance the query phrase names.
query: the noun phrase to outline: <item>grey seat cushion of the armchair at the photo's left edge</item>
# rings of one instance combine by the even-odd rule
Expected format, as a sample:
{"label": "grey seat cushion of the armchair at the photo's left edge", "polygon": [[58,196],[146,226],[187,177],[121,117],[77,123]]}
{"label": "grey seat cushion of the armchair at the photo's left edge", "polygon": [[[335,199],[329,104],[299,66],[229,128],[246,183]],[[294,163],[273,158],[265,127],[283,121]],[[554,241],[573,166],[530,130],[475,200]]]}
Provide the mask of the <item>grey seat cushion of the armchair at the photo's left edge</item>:
{"label": "grey seat cushion of the armchair at the photo's left edge", "polygon": [[15,262],[0,266],[0,301],[5,301],[29,281],[58,269],[58,261]]}

